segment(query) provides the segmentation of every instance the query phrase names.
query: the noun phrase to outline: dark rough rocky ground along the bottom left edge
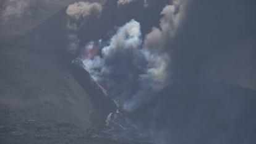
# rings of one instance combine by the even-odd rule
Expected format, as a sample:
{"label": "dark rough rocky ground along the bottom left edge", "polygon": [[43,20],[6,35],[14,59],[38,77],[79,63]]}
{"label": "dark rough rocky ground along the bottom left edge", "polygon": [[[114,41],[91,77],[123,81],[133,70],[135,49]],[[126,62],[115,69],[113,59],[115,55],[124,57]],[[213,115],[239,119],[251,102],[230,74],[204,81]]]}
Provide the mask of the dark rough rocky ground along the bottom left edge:
{"label": "dark rough rocky ground along the bottom left edge", "polygon": [[69,123],[49,126],[34,120],[14,125],[0,125],[0,140],[5,144],[150,144],[114,137],[96,129],[79,129]]}

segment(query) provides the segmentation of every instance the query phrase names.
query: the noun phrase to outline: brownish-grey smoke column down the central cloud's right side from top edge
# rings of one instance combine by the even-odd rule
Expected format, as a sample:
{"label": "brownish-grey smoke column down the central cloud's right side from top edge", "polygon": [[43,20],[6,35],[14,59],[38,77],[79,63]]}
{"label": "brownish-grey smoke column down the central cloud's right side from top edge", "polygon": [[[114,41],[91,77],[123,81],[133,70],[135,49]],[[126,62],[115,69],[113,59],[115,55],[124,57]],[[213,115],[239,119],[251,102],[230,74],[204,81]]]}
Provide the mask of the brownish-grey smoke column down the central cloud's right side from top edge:
{"label": "brownish-grey smoke column down the central cloud's right side from top edge", "polygon": [[[184,1],[173,1],[173,4],[165,6],[161,14],[163,18],[160,20],[160,28],[153,27],[151,32],[146,35],[143,47],[147,48],[144,53],[148,61],[148,69],[145,74],[140,75],[140,82],[142,85],[153,89],[153,91],[161,90],[170,82],[170,71],[169,65],[171,58],[166,51],[166,48],[173,39],[179,24],[182,22],[184,12]],[[151,51],[151,53],[148,53]],[[148,88],[142,88],[139,91],[139,95],[134,96],[132,99],[124,104],[126,109],[135,109],[138,105],[138,101],[145,101],[148,95],[146,92]],[[144,89],[144,90],[143,90]]]}

